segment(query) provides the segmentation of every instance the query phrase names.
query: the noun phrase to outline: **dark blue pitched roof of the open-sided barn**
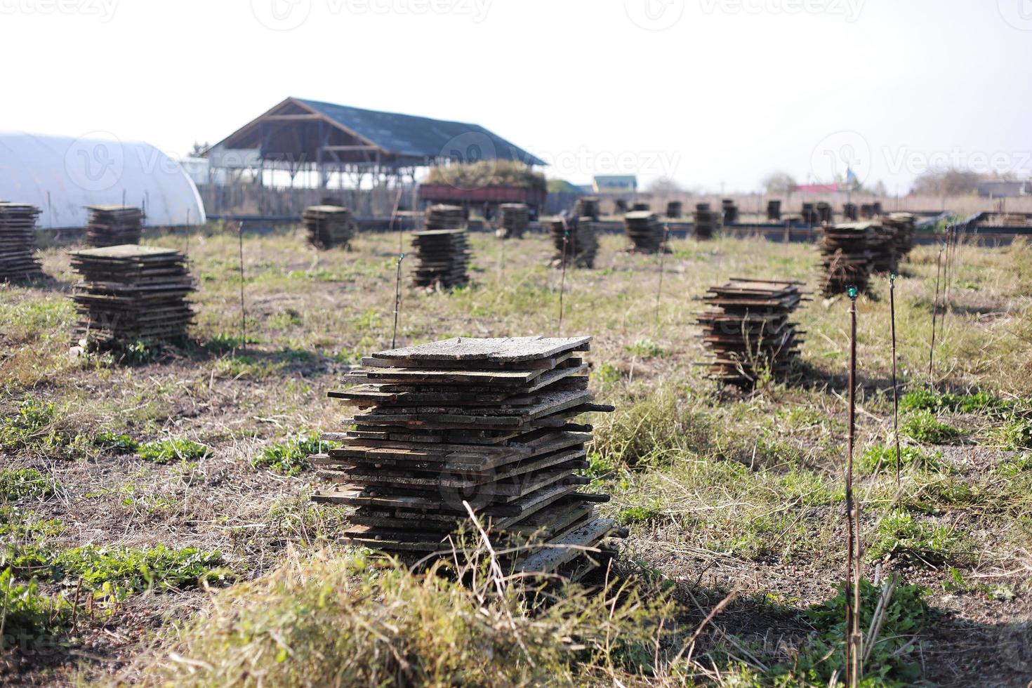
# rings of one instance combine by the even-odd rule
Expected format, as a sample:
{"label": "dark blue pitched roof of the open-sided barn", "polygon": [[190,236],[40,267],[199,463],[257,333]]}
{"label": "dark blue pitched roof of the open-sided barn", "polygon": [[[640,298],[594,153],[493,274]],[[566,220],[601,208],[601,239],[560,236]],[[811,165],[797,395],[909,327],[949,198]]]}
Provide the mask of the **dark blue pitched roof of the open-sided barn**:
{"label": "dark blue pitched roof of the open-sided barn", "polygon": [[[266,160],[420,165],[456,160],[545,163],[476,124],[287,98],[216,144]],[[213,146],[213,148],[216,148]]]}

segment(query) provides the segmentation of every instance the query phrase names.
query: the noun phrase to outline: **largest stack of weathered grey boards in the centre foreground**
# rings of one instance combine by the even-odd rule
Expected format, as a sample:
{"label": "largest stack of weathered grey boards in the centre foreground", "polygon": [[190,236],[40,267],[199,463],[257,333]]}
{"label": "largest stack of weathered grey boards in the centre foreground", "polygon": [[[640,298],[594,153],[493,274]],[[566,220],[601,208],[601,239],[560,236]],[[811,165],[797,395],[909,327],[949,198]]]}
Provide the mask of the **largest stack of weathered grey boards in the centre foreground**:
{"label": "largest stack of weathered grey boards in the centre foreground", "polygon": [[495,551],[516,549],[507,574],[582,577],[616,531],[594,512],[609,495],[575,473],[592,438],[577,418],[613,409],[587,390],[590,341],[455,337],[363,359],[329,392],[354,429],[322,435],[340,447],[311,461],[335,488],[313,499],[354,507],[353,545],[448,559],[477,545],[472,510]]}

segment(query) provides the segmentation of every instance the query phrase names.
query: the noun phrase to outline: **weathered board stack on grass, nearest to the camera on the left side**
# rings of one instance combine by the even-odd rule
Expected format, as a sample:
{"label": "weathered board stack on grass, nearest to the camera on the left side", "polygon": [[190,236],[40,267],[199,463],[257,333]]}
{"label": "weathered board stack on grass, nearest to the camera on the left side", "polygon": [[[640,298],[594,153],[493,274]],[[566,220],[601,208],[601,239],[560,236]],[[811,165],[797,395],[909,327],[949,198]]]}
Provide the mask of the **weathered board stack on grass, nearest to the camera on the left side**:
{"label": "weathered board stack on grass, nearest to the camera on the left side", "polygon": [[71,254],[82,281],[72,300],[78,313],[74,345],[120,349],[136,341],[181,341],[193,320],[194,290],[179,251],[124,244]]}

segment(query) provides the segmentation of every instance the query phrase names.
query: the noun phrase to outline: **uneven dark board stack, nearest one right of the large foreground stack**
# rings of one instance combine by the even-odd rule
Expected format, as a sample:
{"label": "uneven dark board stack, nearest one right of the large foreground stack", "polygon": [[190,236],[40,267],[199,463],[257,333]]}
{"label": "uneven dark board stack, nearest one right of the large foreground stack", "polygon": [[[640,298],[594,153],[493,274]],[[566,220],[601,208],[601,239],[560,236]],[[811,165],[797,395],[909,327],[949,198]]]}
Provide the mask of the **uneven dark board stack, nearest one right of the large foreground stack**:
{"label": "uneven dark board stack, nearest one right of the large foreground stack", "polygon": [[727,383],[749,386],[759,376],[784,376],[799,355],[801,331],[788,321],[803,300],[801,282],[734,277],[703,297],[703,342],[713,355],[709,371]]}

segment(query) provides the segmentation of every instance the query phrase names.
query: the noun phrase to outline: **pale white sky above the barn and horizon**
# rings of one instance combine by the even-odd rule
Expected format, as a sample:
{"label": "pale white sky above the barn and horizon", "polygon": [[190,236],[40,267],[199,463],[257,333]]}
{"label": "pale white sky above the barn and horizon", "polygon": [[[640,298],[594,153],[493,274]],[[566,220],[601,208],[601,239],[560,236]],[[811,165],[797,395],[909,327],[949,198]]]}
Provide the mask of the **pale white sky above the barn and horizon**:
{"label": "pale white sky above the barn and horizon", "polygon": [[1030,0],[0,0],[0,129],[183,155],[286,96],[753,191],[1032,171]]}

